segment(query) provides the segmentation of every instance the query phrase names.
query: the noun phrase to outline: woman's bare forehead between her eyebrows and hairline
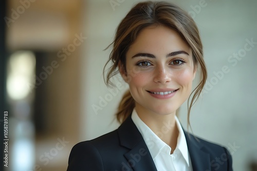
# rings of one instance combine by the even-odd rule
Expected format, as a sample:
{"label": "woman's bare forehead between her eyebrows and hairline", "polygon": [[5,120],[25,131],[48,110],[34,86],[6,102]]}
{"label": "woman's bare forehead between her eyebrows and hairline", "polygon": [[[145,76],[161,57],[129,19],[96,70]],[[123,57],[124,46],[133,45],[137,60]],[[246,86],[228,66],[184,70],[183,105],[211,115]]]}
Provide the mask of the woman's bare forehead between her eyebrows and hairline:
{"label": "woman's bare forehead between her eyebrows and hairline", "polygon": [[191,49],[176,31],[160,25],[144,28],[128,49],[127,55],[140,52],[170,53],[179,50],[190,52]]}

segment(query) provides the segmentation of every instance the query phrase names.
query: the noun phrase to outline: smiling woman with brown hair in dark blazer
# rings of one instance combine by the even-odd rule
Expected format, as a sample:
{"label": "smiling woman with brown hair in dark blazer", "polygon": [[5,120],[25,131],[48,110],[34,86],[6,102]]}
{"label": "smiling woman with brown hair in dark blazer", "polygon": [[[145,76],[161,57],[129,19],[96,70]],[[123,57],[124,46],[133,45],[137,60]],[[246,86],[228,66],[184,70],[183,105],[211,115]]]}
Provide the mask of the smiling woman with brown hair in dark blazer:
{"label": "smiling woman with brown hair in dark blazer", "polygon": [[[118,26],[106,83],[120,73],[128,83],[120,102],[120,127],[75,145],[67,170],[232,170],[226,148],[185,132],[176,111],[190,99],[196,71],[207,78],[203,47],[193,19],[166,2],[142,2]],[[108,63],[107,62],[107,63]]]}

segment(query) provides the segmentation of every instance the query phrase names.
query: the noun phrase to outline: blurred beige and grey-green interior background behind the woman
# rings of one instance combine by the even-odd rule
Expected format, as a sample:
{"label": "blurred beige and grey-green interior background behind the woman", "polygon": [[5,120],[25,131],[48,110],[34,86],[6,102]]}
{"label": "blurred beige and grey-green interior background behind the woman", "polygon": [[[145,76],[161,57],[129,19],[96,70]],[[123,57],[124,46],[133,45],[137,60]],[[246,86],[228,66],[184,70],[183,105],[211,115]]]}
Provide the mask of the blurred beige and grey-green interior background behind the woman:
{"label": "blurred beige and grey-green interior background behind the woman", "polygon": [[[9,141],[0,170],[66,170],[72,146],[117,129],[127,86],[120,76],[105,86],[104,49],[138,2],[3,1],[0,126],[8,111]],[[235,171],[257,170],[257,1],[168,2],[189,12],[204,44],[209,75],[190,116],[193,133],[226,146]],[[186,115],[185,104],[185,129]]]}

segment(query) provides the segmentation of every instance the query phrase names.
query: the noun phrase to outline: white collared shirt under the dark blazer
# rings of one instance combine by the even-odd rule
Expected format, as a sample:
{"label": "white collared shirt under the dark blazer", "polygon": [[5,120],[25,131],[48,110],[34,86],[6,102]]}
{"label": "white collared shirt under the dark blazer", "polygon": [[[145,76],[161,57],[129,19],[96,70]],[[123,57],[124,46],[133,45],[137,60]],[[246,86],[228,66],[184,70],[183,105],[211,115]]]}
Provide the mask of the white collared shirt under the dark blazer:
{"label": "white collared shirt under the dark blazer", "polygon": [[139,118],[136,110],[132,112],[132,120],[148,146],[150,154],[154,160],[154,164],[158,171],[192,171],[192,164],[188,152],[188,146],[182,126],[175,116],[178,126],[179,135],[177,138],[177,146],[171,154],[171,147],[163,142],[159,137],[164,136],[166,130],[169,129],[169,122],[163,122],[159,137]]}

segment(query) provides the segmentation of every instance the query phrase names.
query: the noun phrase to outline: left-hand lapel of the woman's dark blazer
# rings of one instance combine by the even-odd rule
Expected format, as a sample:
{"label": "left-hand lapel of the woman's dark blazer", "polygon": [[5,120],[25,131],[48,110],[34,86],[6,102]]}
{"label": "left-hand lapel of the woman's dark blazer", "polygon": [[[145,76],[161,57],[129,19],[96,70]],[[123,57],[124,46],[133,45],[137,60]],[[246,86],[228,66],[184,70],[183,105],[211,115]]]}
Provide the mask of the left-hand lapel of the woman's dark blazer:
{"label": "left-hand lapel of the woman's dark blazer", "polygon": [[127,164],[135,171],[157,171],[152,156],[136,125],[128,117],[119,127],[120,145],[131,149],[124,154]]}

